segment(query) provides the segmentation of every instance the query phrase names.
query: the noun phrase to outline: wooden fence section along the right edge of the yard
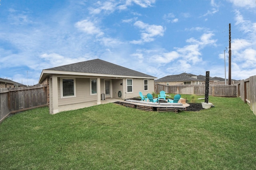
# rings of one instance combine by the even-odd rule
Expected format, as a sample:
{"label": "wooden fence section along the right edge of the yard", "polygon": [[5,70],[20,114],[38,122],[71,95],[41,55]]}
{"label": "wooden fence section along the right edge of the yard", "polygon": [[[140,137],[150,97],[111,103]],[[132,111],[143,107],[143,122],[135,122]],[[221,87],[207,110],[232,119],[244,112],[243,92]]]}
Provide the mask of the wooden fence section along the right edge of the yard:
{"label": "wooden fence section along the right edge of the yard", "polygon": [[256,76],[240,80],[238,83],[238,97],[250,106],[256,115]]}

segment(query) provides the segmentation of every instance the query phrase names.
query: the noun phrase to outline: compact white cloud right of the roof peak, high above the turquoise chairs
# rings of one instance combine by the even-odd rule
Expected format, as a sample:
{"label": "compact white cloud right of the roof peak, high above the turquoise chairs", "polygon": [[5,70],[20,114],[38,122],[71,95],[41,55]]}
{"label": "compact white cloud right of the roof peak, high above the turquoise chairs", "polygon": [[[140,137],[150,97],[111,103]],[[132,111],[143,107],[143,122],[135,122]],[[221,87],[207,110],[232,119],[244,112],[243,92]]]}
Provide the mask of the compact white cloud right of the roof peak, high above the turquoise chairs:
{"label": "compact white cloud right of the roof peak, high above the turquoise chairs", "polygon": [[141,39],[131,41],[134,44],[154,41],[154,37],[163,36],[164,28],[161,25],[149,25],[142,21],[136,21],[134,26],[141,29]]}

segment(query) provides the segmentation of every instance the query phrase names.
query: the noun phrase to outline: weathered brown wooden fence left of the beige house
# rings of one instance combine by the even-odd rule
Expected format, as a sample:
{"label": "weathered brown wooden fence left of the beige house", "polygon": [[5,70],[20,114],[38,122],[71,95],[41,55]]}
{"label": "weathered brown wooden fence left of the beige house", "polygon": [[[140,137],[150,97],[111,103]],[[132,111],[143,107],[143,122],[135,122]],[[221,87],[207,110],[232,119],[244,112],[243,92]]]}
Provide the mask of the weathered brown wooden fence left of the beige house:
{"label": "weathered brown wooden fence left of the beige house", "polygon": [[11,113],[47,105],[46,85],[0,88],[0,122]]}

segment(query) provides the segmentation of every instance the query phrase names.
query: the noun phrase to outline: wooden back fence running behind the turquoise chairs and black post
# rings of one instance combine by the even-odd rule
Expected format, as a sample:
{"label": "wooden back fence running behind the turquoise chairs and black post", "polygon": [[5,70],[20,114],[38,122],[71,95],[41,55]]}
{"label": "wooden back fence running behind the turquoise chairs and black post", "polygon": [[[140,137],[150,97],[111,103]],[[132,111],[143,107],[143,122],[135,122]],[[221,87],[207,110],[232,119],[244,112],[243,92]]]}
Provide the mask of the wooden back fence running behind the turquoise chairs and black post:
{"label": "wooden back fence running behind the turquoise chairs and black post", "polygon": [[[236,94],[237,85],[210,85],[209,95],[210,96],[220,96],[220,97],[237,97]],[[205,94],[205,85],[173,85],[166,86],[163,84],[155,84],[155,92],[165,91],[166,93],[174,94]]]}

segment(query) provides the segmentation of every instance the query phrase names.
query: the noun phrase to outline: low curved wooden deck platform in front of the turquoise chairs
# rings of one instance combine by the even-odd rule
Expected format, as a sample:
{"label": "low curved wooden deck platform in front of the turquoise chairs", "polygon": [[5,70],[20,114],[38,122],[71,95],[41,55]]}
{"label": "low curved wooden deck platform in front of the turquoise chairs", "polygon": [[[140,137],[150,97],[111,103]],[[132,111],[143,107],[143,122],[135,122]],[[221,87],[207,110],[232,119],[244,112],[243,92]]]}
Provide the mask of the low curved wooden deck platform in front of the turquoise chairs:
{"label": "low curved wooden deck platform in front of the turquoise chairs", "polygon": [[119,104],[126,106],[126,107],[131,107],[131,108],[137,108],[139,110],[144,110],[144,111],[158,111],[158,112],[174,112],[178,113],[180,110],[186,110],[186,107],[183,106],[182,104],[169,104],[169,105],[160,105],[160,104],[144,104],[144,103],[139,103],[138,102],[128,102],[126,100],[120,101]]}

